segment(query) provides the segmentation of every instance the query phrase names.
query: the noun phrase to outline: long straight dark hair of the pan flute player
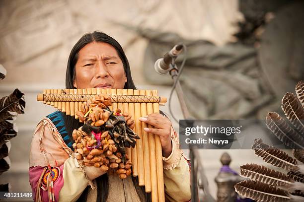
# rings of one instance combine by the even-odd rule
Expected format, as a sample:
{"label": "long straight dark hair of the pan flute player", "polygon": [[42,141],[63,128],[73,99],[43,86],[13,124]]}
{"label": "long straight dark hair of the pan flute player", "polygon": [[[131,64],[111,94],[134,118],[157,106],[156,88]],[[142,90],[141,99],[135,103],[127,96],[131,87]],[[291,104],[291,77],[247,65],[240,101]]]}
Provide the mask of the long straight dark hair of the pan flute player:
{"label": "long straight dark hair of the pan flute player", "polygon": [[[121,47],[121,45],[112,37],[109,35],[103,33],[103,32],[92,32],[92,33],[87,33],[83,35],[75,44],[73,47],[70,56],[69,56],[69,61],[68,61],[68,67],[67,67],[67,73],[66,73],[66,88],[75,88],[73,83],[74,79],[76,76],[75,73],[75,65],[78,60],[78,53],[80,49],[82,49],[85,45],[92,43],[92,42],[104,42],[108,43],[111,46],[113,46],[119,58],[121,59],[124,70],[127,76],[127,82],[125,83],[124,89],[136,89],[134,82],[132,80],[131,76],[131,70],[129,66],[128,59]],[[72,132],[74,129],[78,129],[81,124],[79,123],[78,120],[74,119],[71,116],[67,116],[65,113],[64,115],[64,120],[65,120],[65,126],[68,134],[72,138]],[[109,184],[108,184],[108,175],[104,174],[101,175],[100,177],[96,178],[96,183],[97,183],[97,202],[106,202],[108,195],[109,195]],[[138,196],[140,197],[141,201],[143,202],[151,202],[151,194],[147,194],[145,192],[145,187],[140,187],[138,183],[138,178],[137,177],[132,177],[133,184],[135,186],[135,189],[137,191]],[[79,202],[86,201],[87,199],[87,194],[88,194],[88,189],[89,187],[86,187],[86,189],[82,192],[80,198],[78,199]]]}

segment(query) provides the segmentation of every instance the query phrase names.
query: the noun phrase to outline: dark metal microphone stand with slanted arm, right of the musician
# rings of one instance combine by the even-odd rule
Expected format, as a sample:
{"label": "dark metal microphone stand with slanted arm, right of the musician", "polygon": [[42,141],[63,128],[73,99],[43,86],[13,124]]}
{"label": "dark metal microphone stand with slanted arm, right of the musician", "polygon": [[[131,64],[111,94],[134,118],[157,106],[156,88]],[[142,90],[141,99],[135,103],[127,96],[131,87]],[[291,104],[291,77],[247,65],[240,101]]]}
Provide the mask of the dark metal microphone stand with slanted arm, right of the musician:
{"label": "dark metal microphone stand with slanted arm, right of the musician", "polygon": [[[193,118],[190,116],[190,113],[186,106],[181,85],[178,80],[176,81],[176,78],[178,75],[178,69],[176,68],[174,61],[175,60],[173,59],[172,64],[170,64],[169,72],[170,72],[170,75],[171,75],[172,79],[174,80],[174,82],[176,82],[175,92],[178,97],[178,101],[179,101],[184,119],[193,120]],[[190,124],[192,124],[192,126],[193,126],[193,122],[191,122]],[[191,201],[198,202],[197,166],[198,165],[201,166],[201,163],[200,163],[199,156],[197,156],[198,158],[196,159],[194,149],[195,149],[194,146],[192,146],[192,145],[189,146],[190,160],[191,160]],[[196,152],[196,155],[198,155],[198,152]],[[196,161],[199,161],[199,162],[195,163]]]}

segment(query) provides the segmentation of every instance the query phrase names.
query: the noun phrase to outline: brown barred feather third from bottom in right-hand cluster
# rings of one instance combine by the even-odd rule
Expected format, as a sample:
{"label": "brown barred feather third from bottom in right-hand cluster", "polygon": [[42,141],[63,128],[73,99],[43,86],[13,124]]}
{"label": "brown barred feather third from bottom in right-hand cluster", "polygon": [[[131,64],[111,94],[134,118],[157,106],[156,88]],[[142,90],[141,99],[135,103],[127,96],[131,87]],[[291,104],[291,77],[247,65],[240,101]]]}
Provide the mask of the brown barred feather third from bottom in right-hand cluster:
{"label": "brown barred feather third from bottom in right-hand cluster", "polygon": [[273,146],[263,143],[262,139],[255,139],[252,145],[255,155],[262,157],[263,161],[288,171],[298,171],[298,161]]}

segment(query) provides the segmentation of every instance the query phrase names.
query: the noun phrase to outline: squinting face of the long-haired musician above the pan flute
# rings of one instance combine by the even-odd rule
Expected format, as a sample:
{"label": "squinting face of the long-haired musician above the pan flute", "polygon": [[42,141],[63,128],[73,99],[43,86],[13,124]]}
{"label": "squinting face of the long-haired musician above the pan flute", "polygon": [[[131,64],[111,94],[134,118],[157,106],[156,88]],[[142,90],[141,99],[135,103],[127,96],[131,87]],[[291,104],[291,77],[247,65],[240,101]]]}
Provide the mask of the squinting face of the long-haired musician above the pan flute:
{"label": "squinting face of the long-haired musician above the pan flute", "polygon": [[78,53],[76,88],[124,88],[127,77],[116,49],[108,43],[92,42]]}

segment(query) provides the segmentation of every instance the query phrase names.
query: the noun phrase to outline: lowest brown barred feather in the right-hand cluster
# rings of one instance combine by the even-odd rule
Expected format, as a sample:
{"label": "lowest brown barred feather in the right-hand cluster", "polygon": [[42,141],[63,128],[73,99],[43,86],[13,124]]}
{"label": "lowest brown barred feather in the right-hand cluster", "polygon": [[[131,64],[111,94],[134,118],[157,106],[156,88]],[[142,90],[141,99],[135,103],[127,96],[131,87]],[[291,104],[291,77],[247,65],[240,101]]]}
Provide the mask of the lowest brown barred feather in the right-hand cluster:
{"label": "lowest brown barred feather in the right-hand cluster", "polygon": [[239,195],[257,202],[288,202],[291,199],[286,190],[252,180],[239,182],[234,189]]}

